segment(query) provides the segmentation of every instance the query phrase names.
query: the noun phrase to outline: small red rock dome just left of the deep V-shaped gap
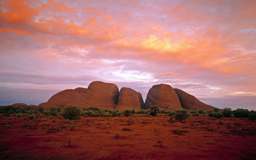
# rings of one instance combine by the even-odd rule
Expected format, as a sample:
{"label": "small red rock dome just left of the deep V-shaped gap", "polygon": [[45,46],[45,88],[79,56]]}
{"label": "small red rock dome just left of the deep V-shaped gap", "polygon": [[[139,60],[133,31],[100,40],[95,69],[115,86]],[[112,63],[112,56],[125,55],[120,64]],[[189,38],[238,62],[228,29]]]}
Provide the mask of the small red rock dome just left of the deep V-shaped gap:
{"label": "small red rock dome just left of the deep V-shaped gap", "polygon": [[123,111],[125,109],[141,109],[144,102],[140,93],[127,87],[120,89],[118,103],[116,109]]}

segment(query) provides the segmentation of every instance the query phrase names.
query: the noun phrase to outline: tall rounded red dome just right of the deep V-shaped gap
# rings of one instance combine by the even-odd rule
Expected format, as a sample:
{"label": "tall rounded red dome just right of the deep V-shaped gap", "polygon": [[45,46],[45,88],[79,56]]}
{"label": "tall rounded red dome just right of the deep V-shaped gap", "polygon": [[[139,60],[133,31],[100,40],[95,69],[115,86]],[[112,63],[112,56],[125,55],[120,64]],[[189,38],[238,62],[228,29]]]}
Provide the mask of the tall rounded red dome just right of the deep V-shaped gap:
{"label": "tall rounded red dome just right of the deep V-shaped gap", "polygon": [[160,109],[181,109],[180,100],[172,86],[157,84],[148,91],[145,108],[157,105]]}

